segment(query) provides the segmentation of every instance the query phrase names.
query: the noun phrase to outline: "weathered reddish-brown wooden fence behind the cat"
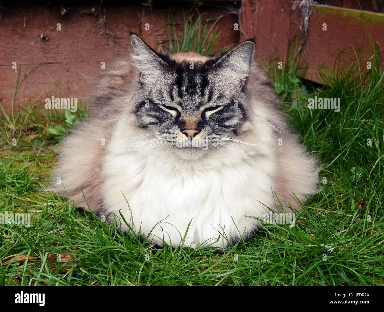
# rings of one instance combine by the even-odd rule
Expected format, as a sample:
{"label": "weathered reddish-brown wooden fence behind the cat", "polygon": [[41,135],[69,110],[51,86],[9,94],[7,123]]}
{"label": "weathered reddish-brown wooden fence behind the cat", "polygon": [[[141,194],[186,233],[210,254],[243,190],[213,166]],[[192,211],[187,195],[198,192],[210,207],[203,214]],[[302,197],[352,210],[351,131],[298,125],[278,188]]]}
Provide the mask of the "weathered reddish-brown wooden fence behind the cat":
{"label": "weathered reddish-brown wooden fence behind the cat", "polygon": [[[356,1],[328,1],[336,6],[292,0],[243,0],[198,2],[205,20],[217,24],[220,49],[255,37],[255,57],[264,62],[285,62],[302,44],[306,64],[303,78],[321,83],[318,69],[332,73],[341,51],[342,65],[354,58],[361,45],[364,64],[373,53],[374,42],[384,42],[384,14],[356,10]],[[137,1],[118,3],[70,3],[22,6],[17,1],[0,10],[0,101],[9,109],[21,68],[21,77],[33,72],[20,87],[15,106],[29,100],[57,96],[86,98],[92,81],[118,58],[129,53],[129,29],[159,51],[167,48],[167,12],[172,10],[177,29],[182,31],[185,13],[192,1]],[[48,3],[48,2],[47,2]],[[371,1],[360,1],[362,9],[373,10]],[[301,5],[300,5],[301,4]],[[377,9],[377,8],[376,8]],[[60,30],[58,30],[60,24]],[[238,27],[236,27],[236,25]],[[326,28],[324,28],[324,25]],[[149,27],[148,27],[149,26]],[[326,29],[326,30],[325,30]],[[382,45],[381,45],[382,50]]]}

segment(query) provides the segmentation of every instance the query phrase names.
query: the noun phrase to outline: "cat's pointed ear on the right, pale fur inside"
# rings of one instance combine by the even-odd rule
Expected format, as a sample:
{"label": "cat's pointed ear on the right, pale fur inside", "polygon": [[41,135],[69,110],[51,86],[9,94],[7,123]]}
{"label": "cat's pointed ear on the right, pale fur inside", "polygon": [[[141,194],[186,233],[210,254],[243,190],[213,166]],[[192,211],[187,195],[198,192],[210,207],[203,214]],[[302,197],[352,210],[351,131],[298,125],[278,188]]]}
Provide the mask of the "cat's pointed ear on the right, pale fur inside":
{"label": "cat's pointed ear on the right, pale fur inside", "polygon": [[249,39],[218,59],[213,67],[220,69],[226,78],[244,86],[245,79],[251,70],[254,54],[255,40]]}

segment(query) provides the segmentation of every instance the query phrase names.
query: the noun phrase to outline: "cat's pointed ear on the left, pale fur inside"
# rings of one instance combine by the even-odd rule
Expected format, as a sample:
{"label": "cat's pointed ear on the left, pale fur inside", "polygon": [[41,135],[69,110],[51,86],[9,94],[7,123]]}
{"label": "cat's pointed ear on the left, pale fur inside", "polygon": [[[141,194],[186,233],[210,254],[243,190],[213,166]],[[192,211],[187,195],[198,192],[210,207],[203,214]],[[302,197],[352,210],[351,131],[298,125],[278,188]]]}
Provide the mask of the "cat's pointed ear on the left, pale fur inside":
{"label": "cat's pointed ear on the left, pale fur inside", "polygon": [[134,33],[131,33],[131,44],[134,51],[132,58],[140,71],[140,81],[146,83],[151,81],[151,78],[158,78],[167,63]]}

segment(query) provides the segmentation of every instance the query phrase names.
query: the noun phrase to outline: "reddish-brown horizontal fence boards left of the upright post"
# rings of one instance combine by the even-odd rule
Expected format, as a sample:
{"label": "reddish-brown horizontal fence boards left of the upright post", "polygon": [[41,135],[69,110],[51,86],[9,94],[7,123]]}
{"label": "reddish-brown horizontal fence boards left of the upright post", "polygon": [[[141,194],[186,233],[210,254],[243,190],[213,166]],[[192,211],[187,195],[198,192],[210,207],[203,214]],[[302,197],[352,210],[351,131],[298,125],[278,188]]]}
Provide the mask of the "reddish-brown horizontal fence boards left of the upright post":
{"label": "reddish-brown horizontal fence boards left of the upright post", "polygon": [[[173,3],[171,6],[174,21],[181,30],[185,14],[192,2]],[[93,5],[72,7],[64,16],[60,6],[53,7],[9,7],[3,10],[0,20],[0,101],[6,111],[10,107],[17,71],[12,68],[16,62],[21,66],[21,77],[33,66],[34,71],[20,87],[14,106],[26,106],[29,99],[35,100],[42,92],[48,95],[87,99],[92,89],[93,79],[102,74],[101,62],[105,67],[130,51],[129,30],[134,31],[154,45],[157,50],[167,47],[166,13],[168,5],[162,3],[154,7],[140,3],[127,3],[125,6],[102,6],[98,14],[91,12]],[[236,45],[239,32],[233,30],[238,22],[238,5],[200,7],[209,25],[222,15],[217,26],[220,33],[220,46]],[[105,22],[104,23],[104,9]],[[96,11],[98,12],[97,8]],[[98,23],[99,25],[98,25]],[[60,23],[61,30],[57,30]],[[149,24],[149,30],[146,30]],[[105,28],[108,27],[108,28]],[[41,35],[46,37],[40,38]],[[53,86],[53,82],[58,86]],[[46,95],[41,96],[41,100]]]}

